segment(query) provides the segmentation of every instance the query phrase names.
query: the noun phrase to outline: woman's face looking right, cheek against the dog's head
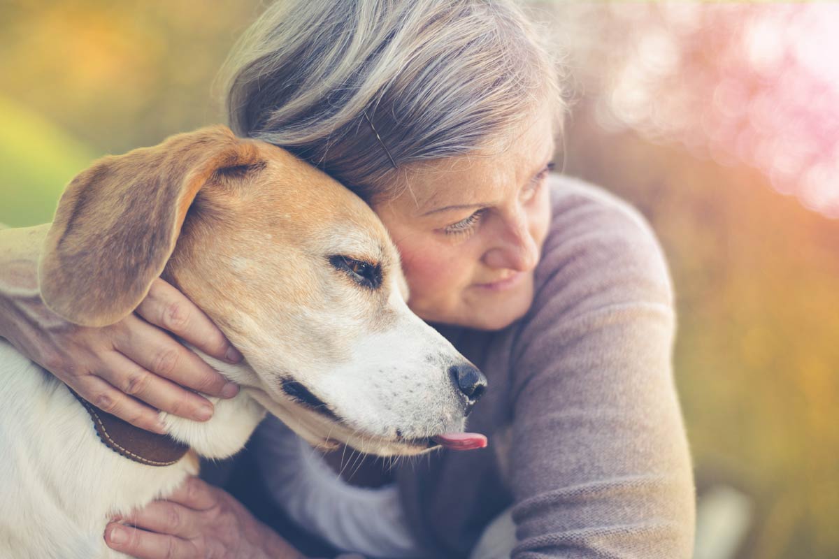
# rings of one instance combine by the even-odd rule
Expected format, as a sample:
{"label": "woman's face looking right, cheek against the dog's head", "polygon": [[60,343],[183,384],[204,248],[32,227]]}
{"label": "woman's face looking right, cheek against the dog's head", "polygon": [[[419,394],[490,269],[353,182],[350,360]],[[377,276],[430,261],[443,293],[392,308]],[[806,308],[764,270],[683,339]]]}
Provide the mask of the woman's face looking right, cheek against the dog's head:
{"label": "woman's face looking right, cheek against the dog's head", "polygon": [[553,116],[550,107],[538,111],[504,138],[503,151],[414,163],[401,194],[373,204],[399,247],[420,318],[502,329],[527,312],[550,221]]}

